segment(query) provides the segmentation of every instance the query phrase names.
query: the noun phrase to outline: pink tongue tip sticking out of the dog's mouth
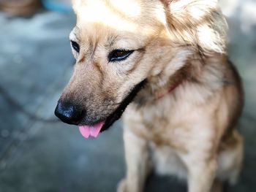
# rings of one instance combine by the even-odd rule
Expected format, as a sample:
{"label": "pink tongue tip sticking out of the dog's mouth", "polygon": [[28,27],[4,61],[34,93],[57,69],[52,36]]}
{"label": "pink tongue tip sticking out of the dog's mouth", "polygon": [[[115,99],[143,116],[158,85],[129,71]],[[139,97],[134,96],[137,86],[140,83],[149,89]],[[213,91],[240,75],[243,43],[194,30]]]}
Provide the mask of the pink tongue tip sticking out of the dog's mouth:
{"label": "pink tongue tip sticking out of the dog's mouth", "polygon": [[100,130],[102,129],[102,126],[104,126],[105,121],[102,121],[100,123],[95,124],[94,126],[78,126],[80,134],[83,135],[86,139],[91,137],[98,137]]}

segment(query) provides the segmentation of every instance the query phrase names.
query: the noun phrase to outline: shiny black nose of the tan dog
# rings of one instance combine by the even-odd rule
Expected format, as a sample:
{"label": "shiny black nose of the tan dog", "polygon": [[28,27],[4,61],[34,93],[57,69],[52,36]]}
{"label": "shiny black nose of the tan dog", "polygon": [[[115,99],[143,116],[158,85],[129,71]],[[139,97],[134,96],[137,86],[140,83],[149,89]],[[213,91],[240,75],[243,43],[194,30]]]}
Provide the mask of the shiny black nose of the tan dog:
{"label": "shiny black nose of the tan dog", "polygon": [[54,113],[64,123],[72,125],[78,125],[83,118],[83,111],[79,110],[77,106],[61,101],[58,102]]}

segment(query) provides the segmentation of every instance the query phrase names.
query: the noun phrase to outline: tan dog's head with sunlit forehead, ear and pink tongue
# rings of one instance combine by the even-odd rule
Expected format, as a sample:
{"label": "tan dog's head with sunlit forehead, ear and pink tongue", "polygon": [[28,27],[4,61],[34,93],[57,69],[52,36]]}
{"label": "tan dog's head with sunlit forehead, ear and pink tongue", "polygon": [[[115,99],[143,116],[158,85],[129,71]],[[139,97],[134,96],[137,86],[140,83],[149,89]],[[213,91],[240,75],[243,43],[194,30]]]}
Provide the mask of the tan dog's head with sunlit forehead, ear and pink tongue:
{"label": "tan dog's head with sunlit forehead, ear and pink tongue", "polygon": [[[189,55],[222,52],[217,1],[73,0],[75,72],[56,115],[97,137],[146,83],[165,85]],[[219,22],[219,25],[218,25]]]}

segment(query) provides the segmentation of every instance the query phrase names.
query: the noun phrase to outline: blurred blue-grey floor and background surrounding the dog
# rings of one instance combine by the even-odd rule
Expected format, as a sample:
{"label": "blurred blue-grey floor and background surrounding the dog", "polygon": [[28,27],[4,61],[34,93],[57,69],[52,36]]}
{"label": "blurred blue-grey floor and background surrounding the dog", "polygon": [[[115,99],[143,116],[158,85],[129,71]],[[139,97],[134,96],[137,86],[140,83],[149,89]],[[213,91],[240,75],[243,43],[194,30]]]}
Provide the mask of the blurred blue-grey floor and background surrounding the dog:
{"label": "blurred blue-grey floor and background surrounding the dog", "polygon": [[[256,1],[220,1],[229,53],[244,80],[244,169],[230,191],[256,191]],[[0,0],[0,191],[116,191],[124,177],[121,123],[98,139],[53,111],[75,63],[69,0]],[[187,191],[173,177],[148,178],[146,191]]]}

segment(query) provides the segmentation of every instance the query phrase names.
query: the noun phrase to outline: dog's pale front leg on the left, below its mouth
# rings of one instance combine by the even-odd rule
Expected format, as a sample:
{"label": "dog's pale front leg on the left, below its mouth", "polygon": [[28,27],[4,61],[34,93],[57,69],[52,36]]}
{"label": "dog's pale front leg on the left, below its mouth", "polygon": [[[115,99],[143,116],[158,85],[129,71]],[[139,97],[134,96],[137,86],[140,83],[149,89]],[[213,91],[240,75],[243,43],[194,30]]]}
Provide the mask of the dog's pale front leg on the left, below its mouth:
{"label": "dog's pale front leg on the left, below its mouth", "polygon": [[118,192],[141,192],[148,174],[148,145],[132,133],[124,129],[124,150],[127,163],[127,175],[118,185]]}

